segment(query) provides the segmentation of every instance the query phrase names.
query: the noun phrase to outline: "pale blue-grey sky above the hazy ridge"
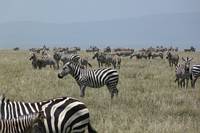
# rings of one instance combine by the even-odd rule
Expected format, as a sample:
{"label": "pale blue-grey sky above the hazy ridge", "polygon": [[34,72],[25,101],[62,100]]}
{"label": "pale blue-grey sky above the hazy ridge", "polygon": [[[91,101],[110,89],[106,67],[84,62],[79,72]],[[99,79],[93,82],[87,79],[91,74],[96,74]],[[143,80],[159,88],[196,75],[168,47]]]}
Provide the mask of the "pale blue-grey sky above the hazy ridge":
{"label": "pale blue-grey sky above the hazy ridge", "polygon": [[71,23],[200,12],[200,0],[0,0],[0,23]]}

